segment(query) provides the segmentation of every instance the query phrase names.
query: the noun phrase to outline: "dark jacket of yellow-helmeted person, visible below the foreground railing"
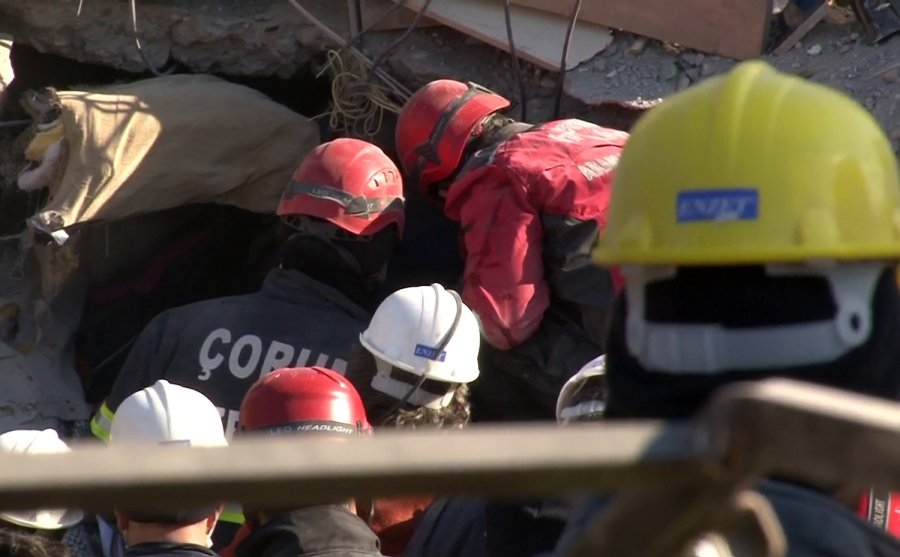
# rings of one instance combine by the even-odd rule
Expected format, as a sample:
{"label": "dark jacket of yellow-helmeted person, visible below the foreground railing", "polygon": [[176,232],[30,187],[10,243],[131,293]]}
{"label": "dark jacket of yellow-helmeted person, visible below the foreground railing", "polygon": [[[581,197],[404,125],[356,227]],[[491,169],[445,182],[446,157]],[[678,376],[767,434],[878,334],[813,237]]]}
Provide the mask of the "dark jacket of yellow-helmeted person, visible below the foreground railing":
{"label": "dark jacket of yellow-helmeted person, visible below the foreground railing", "polygon": [[[836,500],[798,485],[763,480],[757,485],[772,505],[787,539],[785,557],[900,557],[900,541],[870,525]],[[573,513],[554,552],[565,557],[614,496],[585,500]]]}

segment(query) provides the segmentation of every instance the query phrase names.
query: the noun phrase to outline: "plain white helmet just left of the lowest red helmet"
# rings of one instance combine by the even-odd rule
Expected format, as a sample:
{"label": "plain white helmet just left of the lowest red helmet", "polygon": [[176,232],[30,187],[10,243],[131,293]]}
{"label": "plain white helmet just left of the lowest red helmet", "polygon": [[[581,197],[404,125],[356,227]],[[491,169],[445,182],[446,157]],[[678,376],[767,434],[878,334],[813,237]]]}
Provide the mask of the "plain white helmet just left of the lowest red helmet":
{"label": "plain white helmet just left of the lowest red helmet", "polygon": [[193,389],[160,379],[126,398],[109,430],[112,443],[227,445],[219,411]]}

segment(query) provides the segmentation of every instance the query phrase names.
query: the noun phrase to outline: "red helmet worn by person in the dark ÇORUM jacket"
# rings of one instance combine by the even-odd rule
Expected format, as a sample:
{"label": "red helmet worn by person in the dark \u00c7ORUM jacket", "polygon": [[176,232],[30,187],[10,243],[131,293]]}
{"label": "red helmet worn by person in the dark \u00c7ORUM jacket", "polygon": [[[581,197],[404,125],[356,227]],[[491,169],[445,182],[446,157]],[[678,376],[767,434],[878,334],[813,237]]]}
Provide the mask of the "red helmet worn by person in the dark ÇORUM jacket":
{"label": "red helmet worn by person in the dark \u00c7ORUM jacket", "polygon": [[323,143],[285,188],[278,216],[309,215],[359,236],[389,224],[403,233],[403,180],[384,151],[359,139]]}

